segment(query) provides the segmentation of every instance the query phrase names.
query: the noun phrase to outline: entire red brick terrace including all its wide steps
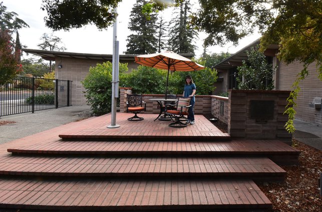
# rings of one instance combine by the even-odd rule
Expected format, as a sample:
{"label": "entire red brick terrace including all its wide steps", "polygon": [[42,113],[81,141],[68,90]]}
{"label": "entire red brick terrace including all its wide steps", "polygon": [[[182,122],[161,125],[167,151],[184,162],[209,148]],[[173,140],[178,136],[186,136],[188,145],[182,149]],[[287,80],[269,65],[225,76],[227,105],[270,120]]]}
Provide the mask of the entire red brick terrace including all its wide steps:
{"label": "entire red brick terrace including all its wide steps", "polygon": [[283,180],[272,158],[299,154],[277,140],[231,139],[203,116],[181,129],[128,116],[117,114],[119,128],[105,115],[1,144],[0,208],[266,209],[253,180]]}

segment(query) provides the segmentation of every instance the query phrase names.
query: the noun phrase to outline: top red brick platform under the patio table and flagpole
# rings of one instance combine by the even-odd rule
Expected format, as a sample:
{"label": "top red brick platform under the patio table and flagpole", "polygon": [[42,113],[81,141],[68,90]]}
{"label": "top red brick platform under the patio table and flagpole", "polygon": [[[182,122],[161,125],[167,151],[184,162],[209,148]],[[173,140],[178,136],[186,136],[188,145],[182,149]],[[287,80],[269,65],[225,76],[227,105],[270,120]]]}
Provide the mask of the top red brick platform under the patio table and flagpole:
{"label": "top red brick platform under the patio table and flagpole", "polygon": [[[131,115],[131,114],[130,114]],[[110,116],[100,116],[95,119],[87,120],[86,122],[79,124],[77,128],[66,130],[65,133],[61,133],[61,138],[76,138],[76,139],[229,139],[228,133],[221,132],[211,122],[209,122],[204,116],[196,115],[195,124],[188,125],[184,128],[169,127],[169,121],[153,121],[156,114],[140,114],[143,117],[143,121],[128,121],[128,113],[119,113],[117,116],[117,124],[119,128],[108,129],[107,126],[111,123]]]}

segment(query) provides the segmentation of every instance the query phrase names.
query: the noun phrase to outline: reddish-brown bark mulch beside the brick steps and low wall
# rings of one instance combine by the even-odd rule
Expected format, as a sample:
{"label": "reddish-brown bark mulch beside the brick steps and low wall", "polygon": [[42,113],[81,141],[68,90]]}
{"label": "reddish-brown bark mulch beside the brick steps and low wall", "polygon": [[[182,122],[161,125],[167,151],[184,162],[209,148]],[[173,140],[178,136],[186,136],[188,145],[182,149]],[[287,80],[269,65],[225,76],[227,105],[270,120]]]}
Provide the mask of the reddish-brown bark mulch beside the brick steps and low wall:
{"label": "reddish-brown bark mulch beside the brick steps and low wall", "polygon": [[[213,118],[205,115],[206,118]],[[227,124],[220,120],[212,122],[222,132],[228,131]],[[319,177],[322,172],[322,151],[292,140],[292,146],[301,151],[298,165],[281,166],[287,173],[284,182],[257,184],[272,202],[275,211],[322,211]]]}

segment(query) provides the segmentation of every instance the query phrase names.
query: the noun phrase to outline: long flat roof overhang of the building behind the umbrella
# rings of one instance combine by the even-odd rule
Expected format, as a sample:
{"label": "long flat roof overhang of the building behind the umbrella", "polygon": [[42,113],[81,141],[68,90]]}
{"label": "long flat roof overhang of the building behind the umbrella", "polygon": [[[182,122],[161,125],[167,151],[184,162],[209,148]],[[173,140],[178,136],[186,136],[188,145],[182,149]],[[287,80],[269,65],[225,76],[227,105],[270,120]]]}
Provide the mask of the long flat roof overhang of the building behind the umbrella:
{"label": "long flat roof overhang of the building behind the umbrella", "polygon": [[[47,50],[36,49],[22,49],[28,54],[33,54],[42,57],[44,60],[55,61],[55,58],[77,58],[77,59],[89,59],[89,60],[108,60],[111,61],[113,55],[103,54],[87,54],[87,53],[75,53],[75,52],[56,52]],[[194,54],[180,54],[183,57],[191,59]],[[122,61],[134,61],[134,57],[137,55],[120,55],[119,58]]]}

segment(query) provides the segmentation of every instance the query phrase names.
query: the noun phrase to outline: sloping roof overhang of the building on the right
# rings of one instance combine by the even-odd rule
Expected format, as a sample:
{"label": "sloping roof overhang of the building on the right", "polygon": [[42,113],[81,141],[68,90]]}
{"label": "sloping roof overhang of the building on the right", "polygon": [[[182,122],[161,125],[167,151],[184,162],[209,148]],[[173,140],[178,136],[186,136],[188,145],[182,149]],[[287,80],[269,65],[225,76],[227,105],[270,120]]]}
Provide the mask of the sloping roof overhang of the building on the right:
{"label": "sloping roof overhang of the building on the right", "polygon": [[[226,58],[225,60],[221,61],[220,63],[216,64],[215,66],[213,66],[213,68],[216,68],[217,70],[222,70],[222,69],[230,69],[236,66],[241,66],[242,61],[248,59],[246,52],[258,44],[259,44],[259,39],[247,45],[246,47],[242,48],[241,50],[231,55],[230,57]],[[270,44],[265,50],[264,54],[266,56],[275,56],[275,54],[277,53],[277,50],[278,50],[277,44]]]}

